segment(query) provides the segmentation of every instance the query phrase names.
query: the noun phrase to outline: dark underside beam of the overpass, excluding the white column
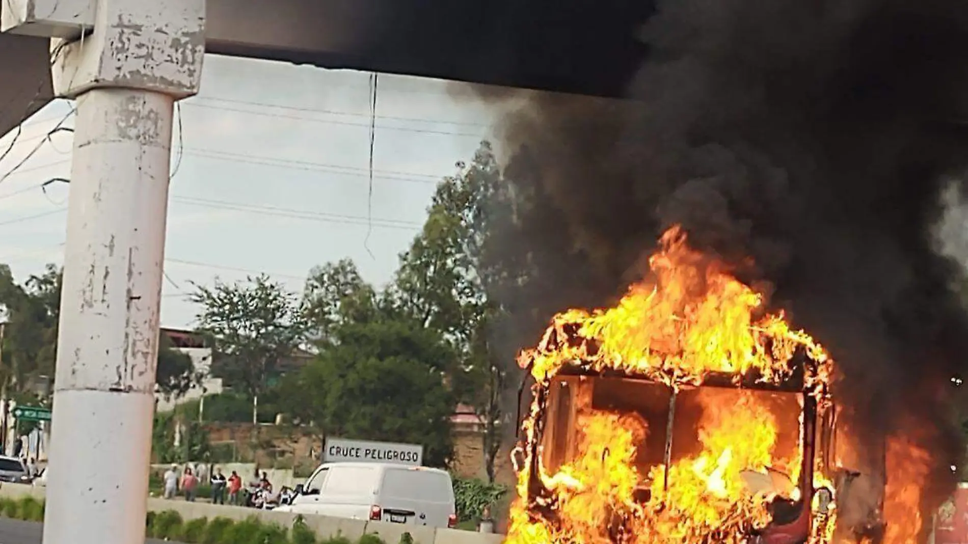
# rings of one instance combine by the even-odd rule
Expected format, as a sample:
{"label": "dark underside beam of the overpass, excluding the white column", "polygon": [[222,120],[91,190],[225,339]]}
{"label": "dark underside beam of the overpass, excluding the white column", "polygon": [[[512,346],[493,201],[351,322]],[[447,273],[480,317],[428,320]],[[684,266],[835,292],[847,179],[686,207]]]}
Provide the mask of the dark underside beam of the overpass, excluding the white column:
{"label": "dark underside beam of the overpass, excluding the white column", "polygon": [[[207,0],[206,47],[330,69],[619,96],[645,54],[635,35],[650,2],[552,6],[539,0]],[[45,40],[0,35],[0,134],[49,100],[47,51]]]}

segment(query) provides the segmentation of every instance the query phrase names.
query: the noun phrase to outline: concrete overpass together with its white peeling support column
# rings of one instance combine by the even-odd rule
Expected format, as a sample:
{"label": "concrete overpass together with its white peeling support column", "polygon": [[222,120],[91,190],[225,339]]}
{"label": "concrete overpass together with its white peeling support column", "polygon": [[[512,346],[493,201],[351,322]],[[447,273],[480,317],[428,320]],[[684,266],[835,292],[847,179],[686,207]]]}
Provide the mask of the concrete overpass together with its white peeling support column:
{"label": "concrete overpass together with its white peeling support column", "polygon": [[76,100],[44,544],[144,542],[172,111],[205,52],[620,96],[649,14],[643,0],[0,2],[0,135]]}

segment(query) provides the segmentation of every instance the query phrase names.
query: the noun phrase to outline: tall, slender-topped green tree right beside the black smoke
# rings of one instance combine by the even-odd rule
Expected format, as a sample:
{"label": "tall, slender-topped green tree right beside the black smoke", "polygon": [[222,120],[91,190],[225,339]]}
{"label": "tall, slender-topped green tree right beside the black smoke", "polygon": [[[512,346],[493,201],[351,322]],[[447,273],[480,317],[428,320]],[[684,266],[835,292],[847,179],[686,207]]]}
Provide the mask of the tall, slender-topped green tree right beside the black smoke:
{"label": "tall, slender-topped green tree right beside the black smoke", "polygon": [[483,461],[494,481],[513,357],[494,344],[504,309],[491,294],[515,278],[493,256],[491,235],[513,209],[490,143],[481,142],[473,161],[457,167],[438,185],[423,230],[401,256],[393,290],[398,307],[460,353],[463,372],[453,385],[484,426]]}

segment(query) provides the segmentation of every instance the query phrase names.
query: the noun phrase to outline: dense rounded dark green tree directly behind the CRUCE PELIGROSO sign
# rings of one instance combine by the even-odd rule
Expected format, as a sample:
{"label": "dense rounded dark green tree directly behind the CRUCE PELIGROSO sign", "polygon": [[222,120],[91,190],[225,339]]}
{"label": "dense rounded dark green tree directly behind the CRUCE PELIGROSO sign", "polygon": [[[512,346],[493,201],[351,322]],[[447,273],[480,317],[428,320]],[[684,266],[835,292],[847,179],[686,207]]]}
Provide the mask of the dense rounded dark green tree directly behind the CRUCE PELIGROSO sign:
{"label": "dense rounded dark green tree directly behind the CRUCE PELIGROSO sign", "polygon": [[287,376],[287,412],[322,433],[424,444],[443,467],[453,453],[454,396],[443,382],[456,355],[437,331],[410,320],[350,322],[318,358]]}

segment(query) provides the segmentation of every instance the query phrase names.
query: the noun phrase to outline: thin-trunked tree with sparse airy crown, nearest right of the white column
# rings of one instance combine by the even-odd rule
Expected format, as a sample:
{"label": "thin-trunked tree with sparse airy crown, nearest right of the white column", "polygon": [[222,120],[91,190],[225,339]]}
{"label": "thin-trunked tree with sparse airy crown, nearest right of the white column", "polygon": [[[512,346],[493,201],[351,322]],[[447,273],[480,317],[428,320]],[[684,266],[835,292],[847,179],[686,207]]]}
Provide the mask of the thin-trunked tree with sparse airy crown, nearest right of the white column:
{"label": "thin-trunked tree with sparse airy crown, nearest right of the white column", "polygon": [[259,395],[306,337],[300,299],[264,275],[195,287],[191,300],[201,307],[198,330],[212,342],[212,375],[253,400],[257,421]]}

